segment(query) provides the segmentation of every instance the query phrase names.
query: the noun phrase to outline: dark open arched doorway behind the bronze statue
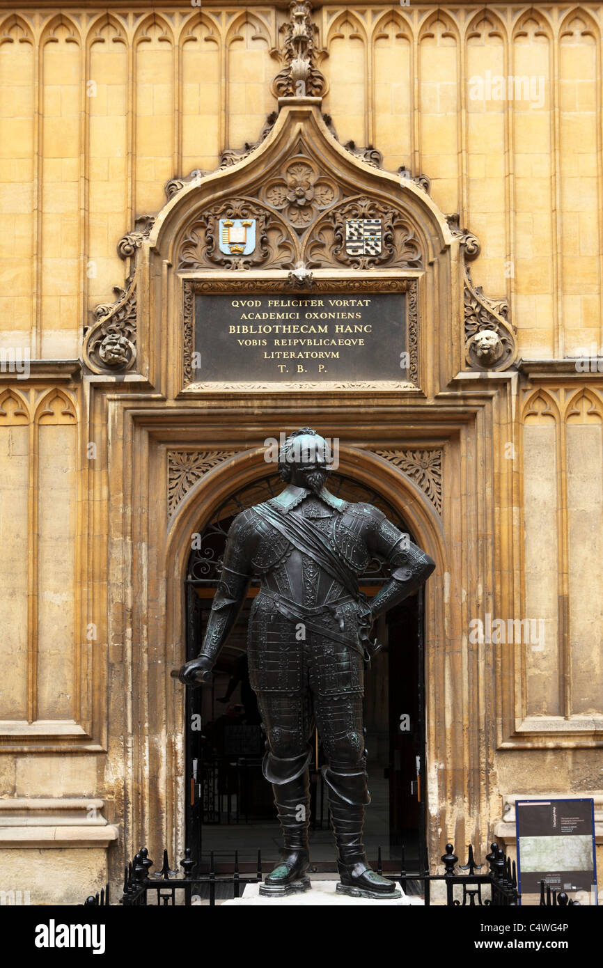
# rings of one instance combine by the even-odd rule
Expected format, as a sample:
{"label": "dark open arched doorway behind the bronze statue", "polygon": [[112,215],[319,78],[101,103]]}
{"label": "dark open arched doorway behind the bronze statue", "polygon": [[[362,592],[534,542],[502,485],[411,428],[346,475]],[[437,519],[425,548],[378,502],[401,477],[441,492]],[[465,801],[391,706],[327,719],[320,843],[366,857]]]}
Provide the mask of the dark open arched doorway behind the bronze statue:
{"label": "dark open arched doorway behind the bronze statue", "polygon": [[[329,490],[351,501],[375,504],[414,540],[399,511],[368,485],[334,472]],[[187,659],[200,649],[220,575],[226,534],[246,507],[278,494],[276,473],[231,494],[200,532],[185,579]],[[372,560],[360,580],[370,598],[385,578]],[[279,828],[272,790],[261,774],[263,736],[255,694],[247,672],[247,620],[258,583],[247,600],[216,664],[210,688],[187,690],[186,843],[205,866],[214,853],[217,869],[227,870],[234,851],[242,868],[256,863],[257,851],[269,867],[278,858]],[[369,787],[365,844],[371,862],[380,848],[384,869],[418,869],[425,862],[425,683],[423,590],[382,617],[376,626],[382,649],[366,679],[365,725]],[[318,870],[335,871],[335,847],[319,767],[322,750],[315,736],[311,764],[311,856]]]}

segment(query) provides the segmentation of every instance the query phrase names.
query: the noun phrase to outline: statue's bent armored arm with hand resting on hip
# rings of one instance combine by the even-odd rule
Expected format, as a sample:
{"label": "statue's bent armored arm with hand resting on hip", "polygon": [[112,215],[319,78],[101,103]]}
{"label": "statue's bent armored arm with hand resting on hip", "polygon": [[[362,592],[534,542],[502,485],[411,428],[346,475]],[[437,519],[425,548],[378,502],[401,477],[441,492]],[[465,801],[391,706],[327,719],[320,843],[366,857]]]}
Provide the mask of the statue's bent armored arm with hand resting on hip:
{"label": "statue's bent armored arm with hand resting on hip", "polygon": [[[404,601],[431,575],[436,562],[377,511],[375,527],[369,541],[370,550],[389,566],[390,577],[371,602],[373,618],[388,612]],[[378,517],[377,517],[378,516]]]}

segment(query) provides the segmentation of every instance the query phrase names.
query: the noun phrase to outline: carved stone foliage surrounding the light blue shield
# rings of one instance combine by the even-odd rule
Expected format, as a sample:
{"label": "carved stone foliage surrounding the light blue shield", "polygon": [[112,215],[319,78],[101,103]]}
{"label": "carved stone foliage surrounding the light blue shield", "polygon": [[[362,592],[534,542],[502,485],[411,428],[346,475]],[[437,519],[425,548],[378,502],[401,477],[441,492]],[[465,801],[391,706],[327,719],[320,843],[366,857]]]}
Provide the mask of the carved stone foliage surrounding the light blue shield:
{"label": "carved stone foliage surrounding the light blue shield", "polygon": [[[255,221],[256,246],[248,256],[220,250],[220,220]],[[233,198],[196,217],[178,247],[179,269],[293,268],[296,247],[285,221],[253,198]]]}

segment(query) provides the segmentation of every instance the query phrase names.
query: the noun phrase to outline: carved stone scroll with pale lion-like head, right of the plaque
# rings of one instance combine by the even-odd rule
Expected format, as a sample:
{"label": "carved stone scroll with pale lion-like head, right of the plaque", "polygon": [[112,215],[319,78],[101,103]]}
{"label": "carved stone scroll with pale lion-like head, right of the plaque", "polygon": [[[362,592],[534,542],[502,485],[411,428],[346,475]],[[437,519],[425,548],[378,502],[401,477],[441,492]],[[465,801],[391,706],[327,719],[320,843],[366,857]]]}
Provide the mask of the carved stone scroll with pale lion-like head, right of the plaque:
{"label": "carved stone scroll with pale lion-like head, right of the plaque", "polygon": [[457,214],[448,215],[447,221],[463,253],[467,366],[473,370],[506,370],[517,355],[517,330],[509,320],[509,305],[506,299],[491,299],[481,286],[473,285],[467,262],[479,256],[479,239],[460,227]]}

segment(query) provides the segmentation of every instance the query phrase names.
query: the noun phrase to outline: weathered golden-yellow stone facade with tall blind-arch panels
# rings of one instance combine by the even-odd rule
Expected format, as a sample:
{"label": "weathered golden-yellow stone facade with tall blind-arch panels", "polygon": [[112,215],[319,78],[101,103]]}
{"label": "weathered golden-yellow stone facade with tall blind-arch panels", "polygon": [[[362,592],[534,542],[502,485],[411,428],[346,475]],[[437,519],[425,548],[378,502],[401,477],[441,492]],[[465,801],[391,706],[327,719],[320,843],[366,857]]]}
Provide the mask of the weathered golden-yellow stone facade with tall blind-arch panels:
{"label": "weathered golden-yellow stone facade with tall blind-arch panels", "polygon": [[[603,844],[603,5],[316,6],[324,82],[296,97],[274,81],[283,5],[0,0],[7,890],[29,887],[30,849],[67,901],[117,882],[141,841],[182,850],[168,670],[190,536],[265,471],[265,438],[306,423],[409,509],[437,560],[430,855],[510,842],[518,795],[593,796]],[[371,278],[414,293],[408,382],[208,387],[187,371],[187,291],[226,274],[196,226],[242,194],[265,207],[300,144],[342,198],[396,214]],[[295,286],[291,254],[317,248],[274,218],[292,248],[268,227],[270,264],[241,271]],[[327,242],[319,285],[366,278]],[[410,467],[427,451],[436,495]],[[174,454],[193,473],[177,495]],[[57,899],[45,890],[32,902]]]}

